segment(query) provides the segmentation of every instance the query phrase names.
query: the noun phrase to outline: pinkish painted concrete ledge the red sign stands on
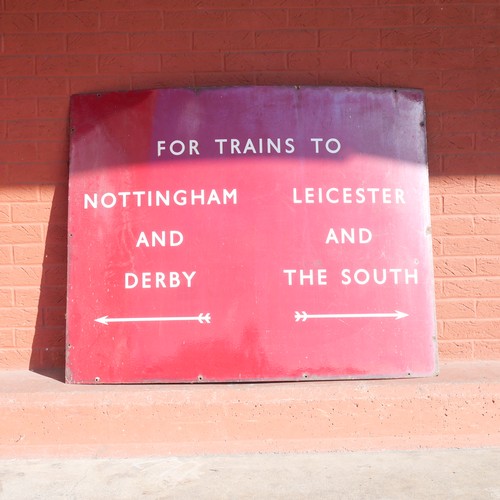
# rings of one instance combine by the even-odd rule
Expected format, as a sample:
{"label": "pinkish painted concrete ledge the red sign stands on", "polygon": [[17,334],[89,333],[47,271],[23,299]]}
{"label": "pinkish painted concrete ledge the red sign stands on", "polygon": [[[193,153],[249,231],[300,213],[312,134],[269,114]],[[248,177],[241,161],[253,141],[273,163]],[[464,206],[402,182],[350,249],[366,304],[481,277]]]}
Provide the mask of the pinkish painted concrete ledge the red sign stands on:
{"label": "pinkish painted concrete ledge the red sign stands on", "polygon": [[66,385],[0,372],[0,456],[140,456],[500,446],[500,361],[438,377]]}

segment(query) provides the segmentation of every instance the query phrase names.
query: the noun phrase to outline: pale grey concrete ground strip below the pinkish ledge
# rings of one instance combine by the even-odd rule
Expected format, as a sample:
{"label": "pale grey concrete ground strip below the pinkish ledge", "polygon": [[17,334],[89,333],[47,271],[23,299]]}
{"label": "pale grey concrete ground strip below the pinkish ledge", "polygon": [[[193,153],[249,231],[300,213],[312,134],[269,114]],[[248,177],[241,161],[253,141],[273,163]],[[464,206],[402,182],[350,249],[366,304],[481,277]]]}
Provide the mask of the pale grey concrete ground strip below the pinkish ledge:
{"label": "pale grey concrete ground strip below the pinkish ledge", "polygon": [[500,448],[4,459],[0,498],[500,499]]}

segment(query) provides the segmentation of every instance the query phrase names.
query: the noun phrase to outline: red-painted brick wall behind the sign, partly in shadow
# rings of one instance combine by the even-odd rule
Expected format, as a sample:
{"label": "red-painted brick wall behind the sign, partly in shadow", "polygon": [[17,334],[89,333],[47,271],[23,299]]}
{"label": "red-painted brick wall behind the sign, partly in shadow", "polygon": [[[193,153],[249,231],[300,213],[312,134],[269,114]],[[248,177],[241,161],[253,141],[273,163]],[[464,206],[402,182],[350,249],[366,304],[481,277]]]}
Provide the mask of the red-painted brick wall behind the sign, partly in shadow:
{"label": "red-painted brick wall behind the sign, partly in shadow", "polygon": [[442,358],[500,358],[500,4],[0,0],[0,369],[64,363],[72,93],[426,92]]}

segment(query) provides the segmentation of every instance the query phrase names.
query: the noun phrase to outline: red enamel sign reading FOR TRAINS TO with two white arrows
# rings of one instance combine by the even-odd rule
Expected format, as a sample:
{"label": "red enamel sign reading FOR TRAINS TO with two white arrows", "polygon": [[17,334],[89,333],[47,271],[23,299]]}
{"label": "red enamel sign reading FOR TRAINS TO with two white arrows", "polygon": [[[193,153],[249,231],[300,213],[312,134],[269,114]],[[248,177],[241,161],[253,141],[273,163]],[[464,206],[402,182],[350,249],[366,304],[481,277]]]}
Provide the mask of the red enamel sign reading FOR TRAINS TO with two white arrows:
{"label": "red enamel sign reading FOR TRAINS TO with two white arrows", "polygon": [[436,371],[423,96],[71,101],[67,381]]}

